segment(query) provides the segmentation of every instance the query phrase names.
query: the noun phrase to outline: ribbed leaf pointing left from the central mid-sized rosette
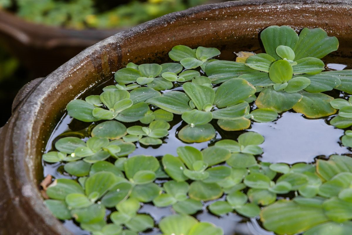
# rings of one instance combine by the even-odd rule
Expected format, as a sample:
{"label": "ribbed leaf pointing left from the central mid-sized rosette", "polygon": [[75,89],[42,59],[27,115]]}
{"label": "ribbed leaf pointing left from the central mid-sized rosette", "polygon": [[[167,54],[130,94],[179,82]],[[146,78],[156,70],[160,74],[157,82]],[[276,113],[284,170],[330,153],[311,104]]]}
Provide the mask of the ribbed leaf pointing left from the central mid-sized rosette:
{"label": "ribbed leaf pointing left from the central mid-sized rosette", "polygon": [[179,91],[170,91],[164,93],[161,97],[154,97],[146,101],[148,104],[158,106],[159,108],[175,114],[182,114],[191,111],[189,107],[188,96]]}

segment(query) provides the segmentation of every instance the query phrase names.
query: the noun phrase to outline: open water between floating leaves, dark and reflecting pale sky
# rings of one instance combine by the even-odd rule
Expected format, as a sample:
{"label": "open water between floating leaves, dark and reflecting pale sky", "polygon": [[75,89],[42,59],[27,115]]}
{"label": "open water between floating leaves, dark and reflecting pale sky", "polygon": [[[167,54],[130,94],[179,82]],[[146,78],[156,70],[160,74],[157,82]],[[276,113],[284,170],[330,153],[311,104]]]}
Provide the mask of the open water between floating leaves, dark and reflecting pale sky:
{"label": "open water between floating leaves, dark and reflecting pale sky", "polygon": [[[351,69],[351,66],[344,64],[328,63],[328,69],[341,70]],[[91,94],[100,94],[102,87],[113,84],[113,81],[108,81],[105,84],[99,85],[92,91],[85,93],[82,97]],[[177,90],[182,89],[177,87]],[[336,91],[328,92],[327,94],[334,98],[344,96],[343,93]],[[252,105],[254,108],[255,105]],[[166,153],[177,155],[176,149],[180,146],[192,146],[197,149],[203,149],[213,145],[216,141],[221,139],[237,140],[237,137],[246,131],[255,131],[265,137],[264,143],[261,147],[264,153],[258,156],[258,160],[265,162],[285,162],[293,164],[296,162],[314,162],[315,157],[327,157],[331,154],[346,154],[349,153],[348,148],[341,146],[340,137],[344,134],[344,130],[337,129],[329,125],[329,120],[332,117],[321,119],[307,119],[302,114],[295,112],[282,113],[277,120],[269,123],[253,122],[249,130],[244,131],[224,131],[221,130],[215,121],[211,123],[216,129],[216,137],[208,142],[203,143],[184,143],[177,138],[177,132],[184,126],[180,115],[174,115],[174,120],[170,122],[171,129],[169,135],[163,139],[161,146],[141,146],[136,143],[136,150],[130,156],[138,154],[147,154],[152,156],[163,156]],[[125,123],[126,124],[126,123]],[[87,140],[89,136],[88,126],[90,123],[83,123],[69,117],[67,114],[57,124],[55,130],[52,132],[48,143],[46,145],[45,153],[54,150],[55,142],[62,137],[76,136],[83,140]],[[135,125],[126,124],[126,126]],[[112,159],[111,159],[112,160]],[[112,160],[112,162],[114,159]],[[44,176],[51,174],[54,178],[69,178],[70,175],[63,171],[62,163],[45,163]],[[207,202],[204,205],[204,210],[194,215],[200,221],[207,221],[224,229],[225,235],[274,235],[274,233],[264,230],[258,222],[258,218],[249,219],[235,213],[230,213],[224,216],[215,216],[208,212],[207,206],[212,202]],[[107,210],[107,216],[111,213]],[[152,204],[144,204],[139,213],[150,214],[156,224],[164,216],[173,214],[171,207],[156,208]],[[78,224],[72,220],[64,221],[64,226],[72,231],[75,235],[89,235],[89,232],[82,230]],[[160,234],[156,227],[153,230],[141,233],[143,235]]]}

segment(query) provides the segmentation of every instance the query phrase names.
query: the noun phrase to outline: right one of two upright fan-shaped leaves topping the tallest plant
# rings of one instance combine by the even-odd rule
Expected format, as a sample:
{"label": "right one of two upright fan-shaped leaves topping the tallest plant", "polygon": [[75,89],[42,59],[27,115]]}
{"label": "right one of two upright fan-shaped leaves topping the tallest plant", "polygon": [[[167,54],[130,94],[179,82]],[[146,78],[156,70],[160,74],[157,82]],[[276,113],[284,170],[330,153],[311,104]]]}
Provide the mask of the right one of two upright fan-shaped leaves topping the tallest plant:
{"label": "right one of two upright fan-shaped leaves topping the tallest plant", "polygon": [[304,28],[300,32],[295,51],[295,61],[305,57],[322,58],[337,50],[339,41],[336,37],[329,37],[325,30],[320,28]]}

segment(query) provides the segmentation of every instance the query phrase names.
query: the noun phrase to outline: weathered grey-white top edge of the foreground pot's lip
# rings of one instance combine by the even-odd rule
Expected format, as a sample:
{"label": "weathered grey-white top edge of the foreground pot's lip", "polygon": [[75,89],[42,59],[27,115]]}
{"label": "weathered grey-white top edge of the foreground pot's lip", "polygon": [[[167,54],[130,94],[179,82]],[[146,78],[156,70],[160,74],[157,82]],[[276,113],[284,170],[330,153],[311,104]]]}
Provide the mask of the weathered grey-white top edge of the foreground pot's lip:
{"label": "weathered grey-white top edge of the foreground pot's lip", "polygon": [[[26,124],[24,124],[24,125],[16,125],[15,123],[13,123],[14,124],[13,129],[15,132],[17,132],[17,131],[26,132],[27,135],[23,135],[23,136],[26,136],[26,137],[33,136],[33,133],[31,132],[31,130],[32,130],[31,127],[34,124],[33,117],[36,116],[36,113],[40,109],[41,104],[40,104],[39,100],[42,100],[43,98],[45,98],[48,94],[51,93],[52,89],[54,89],[57,84],[61,83],[65,78],[67,78],[68,75],[72,74],[74,72],[74,70],[72,70],[72,68],[77,67],[77,65],[82,64],[80,62],[84,61],[84,58],[89,57],[89,55],[92,55],[96,51],[100,51],[109,43],[119,43],[119,42],[122,43],[124,38],[132,37],[132,36],[138,34],[140,31],[148,29],[149,27],[165,24],[165,21],[168,21],[168,23],[170,23],[172,20],[178,20],[182,17],[191,16],[193,14],[197,14],[197,13],[200,13],[203,11],[217,10],[217,9],[226,8],[226,7],[235,7],[235,6],[240,7],[240,6],[249,6],[249,5],[254,5],[254,6],[260,7],[262,5],[270,5],[274,2],[277,4],[285,4],[285,5],[297,5],[297,4],[303,4],[303,3],[308,4],[308,5],[337,4],[337,6],[342,6],[342,7],[344,4],[348,4],[348,2],[350,3],[350,1],[348,1],[348,0],[332,0],[332,1],[331,0],[330,1],[298,0],[298,1],[293,1],[293,2],[283,2],[283,1],[277,1],[277,0],[269,0],[269,1],[265,1],[265,0],[259,0],[259,1],[240,0],[240,1],[224,2],[224,3],[220,3],[220,4],[201,5],[201,6],[189,8],[188,10],[185,10],[185,11],[167,14],[167,15],[159,17],[157,19],[140,24],[138,26],[134,26],[131,29],[119,32],[111,37],[103,39],[102,41],[84,49],[78,55],[71,58],[68,62],[64,63],[58,69],[54,70],[52,73],[50,73],[48,76],[46,76],[46,78],[42,82],[40,82],[38,87],[36,89],[34,89],[33,91],[31,91],[30,94],[27,96],[27,98],[25,100],[23,100],[23,102],[19,105],[19,107],[15,111],[15,112],[17,112],[17,115],[13,115],[13,116],[17,116],[17,118],[11,117],[9,119],[9,122],[13,123],[17,119],[21,119],[21,120],[19,120],[20,122],[21,121],[24,122],[25,120],[27,120],[27,122],[25,122]],[[351,6],[349,6],[349,7],[351,7]],[[38,88],[43,87],[43,86],[45,87],[45,84],[50,84],[51,89],[44,89],[44,90],[42,89],[40,91],[40,89],[38,89]],[[40,92],[35,92],[35,91],[40,91]],[[37,101],[37,103],[33,103],[35,101]],[[24,110],[19,110],[23,107],[25,107]],[[28,120],[31,120],[31,122],[28,122]],[[23,136],[21,138],[22,141],[19,141],[19,143],[26,144],[26,147],[30,148],[29,143],[26,142],[26,140],[23,138]],[[20,148],[20,149],[14,148],[13,153],[14,153],[14,155],[24,154],[23,156],[27,156],[26,155],[27,152],[26,152],[25,148]],[[21,185],[25,186],[25,185],[30,184],[33,187],[36,186],[34,184],[33,179],[31,177],[29,177],[28,174],[30,174],[30,173],[28,173],[28,172],[25,173],[25,176],[26,176],[25,179],[23,179],[23,178],[20,179],[20,181],[22,181]],[[34,188],[38,191],[38,188],[36,188],[36,187],[34,187]],[[33,196],[31,196],[31,198],[30,198],[30,200],[33,202],[38,199],[41,202],[43,202],[42,198],[37,193],[33,194]],[[44,203],[39,203],[39,204],[42,205],[42,208],[40,208],[40,209],[43,209],[43,208],[46,209],[46,207],[44,206]],[[48,209],[46,209],[46,210],[48,210]],[[40,215],[43,215],[43,214],[40,214]],[[57,225],[59,225],[59,228],[65,229],[63,227],[62,223],[57,221],[57,219],[54,216],[51,215],[51,218],[48,218],[48,219],[50,219],[50,221],[52,221],[52,219],[56,220],[56,223],[51,223],[51,226],[57,227]]]}

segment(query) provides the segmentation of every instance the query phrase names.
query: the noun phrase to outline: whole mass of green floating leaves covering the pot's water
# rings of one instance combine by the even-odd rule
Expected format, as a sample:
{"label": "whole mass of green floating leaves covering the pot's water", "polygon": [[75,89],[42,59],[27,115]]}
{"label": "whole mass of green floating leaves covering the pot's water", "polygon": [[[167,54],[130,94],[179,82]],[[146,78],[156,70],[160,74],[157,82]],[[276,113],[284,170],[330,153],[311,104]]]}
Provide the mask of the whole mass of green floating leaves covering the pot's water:
{"label": "whole mass of green floating leaves covering the pot's water", "polygon": [[[64,171],[77,177],[56,179],[47,188],[50,199],[45,203],[53,214],[74,218],[94,235],[133,235],[155,227],[150,215],[138,213],[142,203],[153,203],[176,213],[158,223],[164,235],[222,235],[221,228],[190,216],[214,201],[208,206],[213,214],[235,211],[260,217],[264,228],[277,234],[348,234],[350,157],[332,155],[315,165],[258,163],[264,137],[256,132],[201,151],[178,147],[178,156],[127,157],[135,142],[163,144],[175,115],[187,123],[177,133],[186,143],[212,140],[215,125],[224,131],[245,130],[252,121],[271,122],[290,109],[308,118],[339,110],[331,124],[352,125],[350,100],[322,93],[352,93],[352,70],[322,72],[320,58],[337,50],[337,38],[318,28],[305,28],[298,36],[288,26],[270,26],[260,38],[266,53],[244,53],[236,62],[215,59],[220,54],[216,48],[178,45],[169,52],[174,63],[128,63],[115,73],[116,85],[70,101],[68,115],[95,124],[87,140],[61,138],[57,151],[43,155],[46,162],[65,162]],[[182,89],[166,91],[175,87]],[[342,144],[352,147],[351,130]],[[277,200],[291,192],[299,196]],[[113,212],[107,215],[106,208]]]}

